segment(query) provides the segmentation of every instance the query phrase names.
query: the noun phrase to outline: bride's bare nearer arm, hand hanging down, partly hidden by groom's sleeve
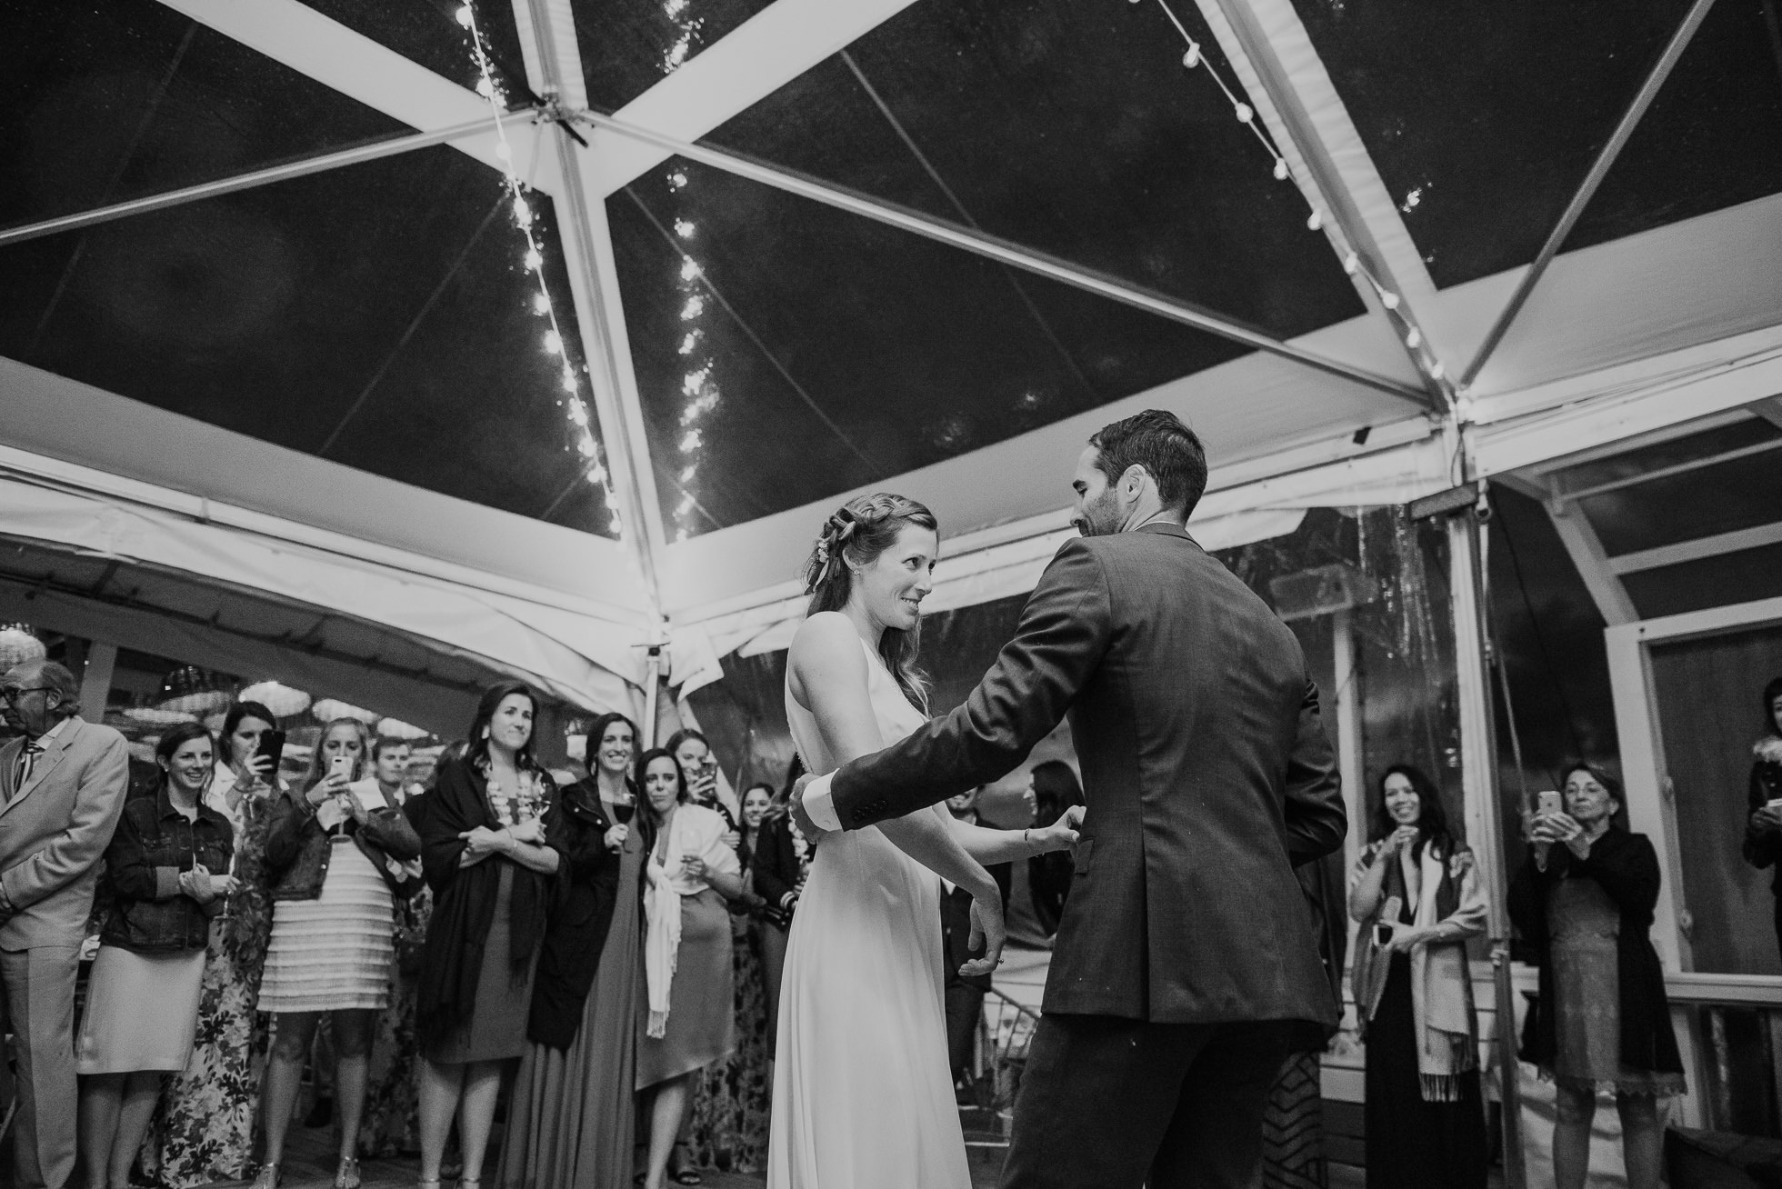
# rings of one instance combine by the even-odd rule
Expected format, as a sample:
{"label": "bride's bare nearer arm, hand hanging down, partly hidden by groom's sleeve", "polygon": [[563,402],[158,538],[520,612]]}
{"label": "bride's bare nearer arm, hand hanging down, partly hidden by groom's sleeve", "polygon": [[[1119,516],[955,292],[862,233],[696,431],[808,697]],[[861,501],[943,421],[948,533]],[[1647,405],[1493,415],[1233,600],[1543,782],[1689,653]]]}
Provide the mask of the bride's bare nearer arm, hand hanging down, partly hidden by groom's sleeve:
{"label": "bride's bare nearer arm, hand hanging down, partly hidden by groom's sleeve", "polygon": [[[793,636],[786,663],[791,693],[816,718],[816,731],[834,765],[879,750],[866,652],[846,615],[822,611],[807,619]],[[987,948],[962,973],[989,973],[1003,941],[1001,891],[991,873],[932,808],[889,818],[879,829],[898,850],[971,893]]]}

